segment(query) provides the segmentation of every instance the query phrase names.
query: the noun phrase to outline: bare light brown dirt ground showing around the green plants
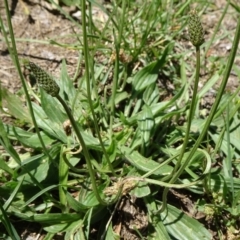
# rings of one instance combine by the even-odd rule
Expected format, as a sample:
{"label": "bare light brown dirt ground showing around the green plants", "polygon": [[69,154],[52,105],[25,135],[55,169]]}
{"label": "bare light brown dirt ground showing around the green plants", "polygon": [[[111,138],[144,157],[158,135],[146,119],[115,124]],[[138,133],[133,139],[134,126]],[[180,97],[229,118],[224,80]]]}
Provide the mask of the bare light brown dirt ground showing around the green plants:
{"label": "bare light brown dirt ground showing around the green plants", "polygon": [[[206,39],[210,39],[212,36],[214,28],[222,14],[223,7],[226,4],[225,0],[216,0],[213,2],[214,3],[210,6],[211,10],[207,9],[206,13],[202,17],[203,25],[206,31]],[[61,62],[65,60],[69,74],[70,76],[73,76],[79,57],[79,51],[74,48],[69,49],[59,47],[57,45],[49,44],[49,42],[51,40],[62,45],[72,44],[74,46],[78,46],[78,41],[72,36],[79,33],[81,30],[75,27],[68,19],[64,18],[64,16],[54,9],[53,6],[46,4],[45,1],[12,0],[9,1],[9,4],[11,6],[12,24],[17,40],[19,57],[28,58],[36,63],[39,63],[41,67],[47,69],[54,76],[59,76]],[[71,16],[79,18],[79,12],[76,11],[75,8],[64,7],[64,10],[70,13]],[[6,23],[3,1],[0,1],[0,14]],[[94,14],[96,18],[104,19],[104,15],[102,15],[98,9],[95,9]],[[226,62],[227,56],[231,50],[234,29],[236,28],[237,22],[236,19],[236,12],[232,8],[229,8],[228,13],[223,20],[221,30],[217,33],[217,40],[213,42],[207,52],[204,62],[206,69],[212,67],[211,61],[208,60],[211,57],[219,57]],[[9,89],[12,93],[15,93],[21,88],[21,82],[15,67],[13,66],[7,46],[3,40],[3,36],[0,36],[0,82],[3,87]],[[191,45],[189,43],[182,42],[182,47],[188,48],[191,47]],[[178,49],[176,49],[176,51],[178,51]],[[186,56],[186,61],[188,61],[189,57],[190,56]],[[240,67],[239,55],[237,56],[235,62]],[[206,79],[209,78],[209,74],[209,71],[207,71],[207,73],[202,73],[203,80],[200,83],[200,88],[204,85]],[[238,77],[236,73],[232,71],[227,88],[230,91],[234,91],[238,85]],[[218,85],[214,86],[212,89],[213,95],[217,91],[217,88]],[[213,96],[211,95],[210,99],[212,98]],[[207,99],[207,101],[209,101],[209,99]],[[171,194],[179,199],[179,207],[181,207],[187,214],[192,215],[191,210],[193,209],[194,200],[191,200],[190,196],[186,197],[185,194],[176,191],[172,191]],[[128,200],[125,199],[124,201],[126,201],[127,204],[130,204]],[[135,214],[136,211],[138,211],[138,215],[144,218],[142,210],[139,210],[138,207],[135,207],[134,211]],[[199,219],[202,217],[203,216],[199,216]],[[30,240],[31,235],[27,235],[28,234],[25,235],[24,239]],[[38,239],[41,239],[41,237]],[[59,239],[61,239],[61,237],[59,237]],[[125,239],[137,238],[129,235],[129,238]]]}

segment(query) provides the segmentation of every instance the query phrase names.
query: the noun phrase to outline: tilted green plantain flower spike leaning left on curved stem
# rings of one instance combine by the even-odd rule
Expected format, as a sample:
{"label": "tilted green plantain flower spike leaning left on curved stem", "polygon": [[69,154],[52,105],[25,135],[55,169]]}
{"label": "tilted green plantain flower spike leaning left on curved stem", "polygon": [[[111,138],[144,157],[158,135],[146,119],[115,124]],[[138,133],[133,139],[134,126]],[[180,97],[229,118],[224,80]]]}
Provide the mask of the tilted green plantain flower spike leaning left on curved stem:
{"label": "tilted green plantain flower spike leaning left on curved stem", "polygon": [[36,79],[38,85],[42,87],[46,93],[52,97],[56,97],[59,94],[59,86],[47,72],[29,60],[24,59],[23,64],[30,71],[30,75]]}

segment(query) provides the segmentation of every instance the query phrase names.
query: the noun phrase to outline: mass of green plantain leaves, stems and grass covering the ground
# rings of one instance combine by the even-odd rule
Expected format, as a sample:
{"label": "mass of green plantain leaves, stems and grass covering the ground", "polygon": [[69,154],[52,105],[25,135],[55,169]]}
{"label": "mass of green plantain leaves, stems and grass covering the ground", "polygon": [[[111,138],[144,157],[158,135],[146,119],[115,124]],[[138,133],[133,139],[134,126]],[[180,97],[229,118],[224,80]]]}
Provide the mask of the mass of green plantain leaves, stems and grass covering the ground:
{"label": "mass of green plantain leaves, stems and grass covering the ground", "polygon": [[[80,5],[80,1],[63,3]],[[140,199],[147,215],[145,229],[132,226],[131,232],[138,238],[211,239],[199,221],[168,201],[169,188],[194,194],[193,208],[208,217],[217,218],[227,211],[231,220],[225,225],[237,228],[240,89],[234,93],[224,89],[239,42],[239,25],[215,103],[204,115],[201,98],[223,70],[216,70],[198,91],[198,47],[203,41],[194,42],[197,70],[190,100],[186,52],[175,52],[176,36],[184,29],[190,1],[144,1],[138,8],[135,1],[122,1],[112,3],[111,11],[94,1],[88,3],[89,7],[100,6],[108,20],[100,28],[83,11],[80,26],[66,15],[83,29],[83,48],[78,49],[84,55],[85,75],[78,79],[78,88],[64,61],[60,81],[55,82],[45,69],[23,60],[38,83],[39,91],[33,93],[18,67],[14,35],[11,41],[5,40],[13,46],[10,52],[14,52],[13,62],[28,102],[26,105],[23,96],[0,89],[1,113],[21,122],[16,126],[0,119],[4,148],[0,156],[0,220],[6,236],[20,239],[13,221],[18,219],[39,223],[47,233],[45,239],[60,232],[65,239],[120,239],[115,216],[127,195]],[[86,9],[85,1],[81,9]],[[7,14],[9,18],[9,11]],[[175,33],[169,32],[173,21],[181,23]],[[194,24],[199,24],[199,19]],[[10,23],[8,27],[11,30]],[[202,37],[202,29],[197,33]],[[97,62],[94,55],[103,54],[103,48],[105,61]],[[170,92],[168,84],[174,86]],[[24,151],[16,151],[15,144]],[[92,231],[96,226],[97,237]]]}

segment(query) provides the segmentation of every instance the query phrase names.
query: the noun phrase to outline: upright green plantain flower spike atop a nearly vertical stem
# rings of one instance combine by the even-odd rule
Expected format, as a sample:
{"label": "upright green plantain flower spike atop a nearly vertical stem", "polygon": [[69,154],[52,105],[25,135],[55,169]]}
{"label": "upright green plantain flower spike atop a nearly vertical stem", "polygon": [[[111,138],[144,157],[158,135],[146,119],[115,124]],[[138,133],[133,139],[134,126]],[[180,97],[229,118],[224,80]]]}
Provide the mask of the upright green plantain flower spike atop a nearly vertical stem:
{"label": "upright green plantain flower spike atop a nearly vertical stem", "polygon": [[195,47],[200,47],[204,43],[204,31],[196,10],[189,13],[188,33]]}

